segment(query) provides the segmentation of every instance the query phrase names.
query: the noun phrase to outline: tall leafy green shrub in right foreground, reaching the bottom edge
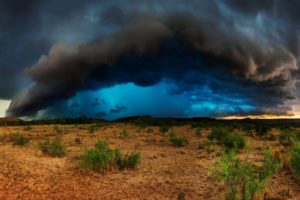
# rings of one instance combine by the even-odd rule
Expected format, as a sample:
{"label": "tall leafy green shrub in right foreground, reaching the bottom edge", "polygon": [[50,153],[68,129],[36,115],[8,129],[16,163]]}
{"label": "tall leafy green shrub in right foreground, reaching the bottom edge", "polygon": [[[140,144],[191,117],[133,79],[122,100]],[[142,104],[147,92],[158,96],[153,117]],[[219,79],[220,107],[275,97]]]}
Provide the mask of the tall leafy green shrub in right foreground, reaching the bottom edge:
{"label": "tall leafy green shrub in right foreground, reaching the bottom edge", "polygon": [[228,186],[226,199],[253,200],[266,185],[266,181],[282,168],[267,151],[261,167],[255,167],[251,161],[241,161],[235,151],[224,154],[211,169],[211,176],[225,181]]}

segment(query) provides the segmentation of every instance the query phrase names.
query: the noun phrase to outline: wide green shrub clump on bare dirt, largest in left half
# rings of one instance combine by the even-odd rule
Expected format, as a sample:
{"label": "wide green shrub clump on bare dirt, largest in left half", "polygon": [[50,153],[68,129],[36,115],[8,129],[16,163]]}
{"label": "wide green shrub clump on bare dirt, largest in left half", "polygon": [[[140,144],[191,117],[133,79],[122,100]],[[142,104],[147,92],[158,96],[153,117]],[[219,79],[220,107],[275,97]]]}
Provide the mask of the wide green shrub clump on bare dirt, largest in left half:
{"label": "wide green shrub clump on bare dirt, largest in left half", "polygon": [[140,163],[140,159],[139,152],[122,154],[119,149],[111,149],[106,140],[99,140],[94,149],[84,149],[79,166],[96,172],[104,172],[112,167],[120,170],[134,169]]}

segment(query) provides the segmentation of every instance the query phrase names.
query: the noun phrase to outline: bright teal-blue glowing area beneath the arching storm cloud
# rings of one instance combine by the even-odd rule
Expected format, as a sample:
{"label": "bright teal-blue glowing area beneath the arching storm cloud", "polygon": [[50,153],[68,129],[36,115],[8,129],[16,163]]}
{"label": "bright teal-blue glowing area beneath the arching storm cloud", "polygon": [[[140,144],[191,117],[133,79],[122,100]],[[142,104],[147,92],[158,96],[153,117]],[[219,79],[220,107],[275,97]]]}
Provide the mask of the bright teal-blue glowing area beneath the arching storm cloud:
{"label": "bright teal-blue glowing area beneath the arching storm cloud", "polygon": [[[251,112],[253,105],[247,99],[229,98],[214,94],[206,86],[190,92],[174,93],[176,84],[162,81],[141,87],[133,83],[77,93],[67,101],[61,101],[42,111],[54,117],[80,117],[113,120],[121,117],[150,115],[154,117],[215,117]],[[55,116],[54,114],[61,115]]]}

